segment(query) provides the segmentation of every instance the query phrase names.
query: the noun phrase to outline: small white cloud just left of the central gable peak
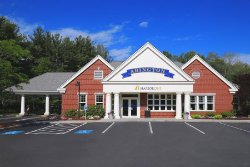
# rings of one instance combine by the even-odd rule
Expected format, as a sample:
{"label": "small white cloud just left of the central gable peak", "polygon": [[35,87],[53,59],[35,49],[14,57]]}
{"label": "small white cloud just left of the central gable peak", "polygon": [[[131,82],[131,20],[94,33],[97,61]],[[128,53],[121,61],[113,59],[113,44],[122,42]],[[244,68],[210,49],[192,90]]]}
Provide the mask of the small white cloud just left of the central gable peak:
{"label": "small white cloud just left of the central gable peak", "polygon": [[130,56],[131,51],[132,47],[128,46],[122,49],[111,49],[109,51],[109,54],[111,57],[113,57],[114,60],[125,60]]}

